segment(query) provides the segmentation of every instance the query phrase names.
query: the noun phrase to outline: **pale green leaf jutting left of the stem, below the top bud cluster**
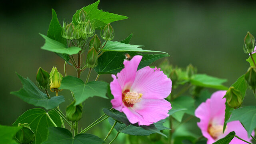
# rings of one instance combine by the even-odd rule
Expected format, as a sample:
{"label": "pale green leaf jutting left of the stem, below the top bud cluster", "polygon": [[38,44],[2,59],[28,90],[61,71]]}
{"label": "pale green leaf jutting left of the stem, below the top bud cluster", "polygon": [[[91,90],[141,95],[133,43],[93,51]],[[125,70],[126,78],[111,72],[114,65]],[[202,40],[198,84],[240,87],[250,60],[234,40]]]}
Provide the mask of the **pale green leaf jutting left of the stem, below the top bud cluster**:
{"label": "pale green leaf jutting left of the stem, below the top bud cluster", "polygon": [[41,47],[43,50],[48,50],[50,52],[56,52],[60,54],[69,54],[69,55],[77,54],[81,50],[81,48],[78,48],[76,46],[66,48],[64,44],[56,40],[53,40],[51,38],[48,38],[43,34],[40,34],[40,35],[45,39],[45,44],[44,46]]}

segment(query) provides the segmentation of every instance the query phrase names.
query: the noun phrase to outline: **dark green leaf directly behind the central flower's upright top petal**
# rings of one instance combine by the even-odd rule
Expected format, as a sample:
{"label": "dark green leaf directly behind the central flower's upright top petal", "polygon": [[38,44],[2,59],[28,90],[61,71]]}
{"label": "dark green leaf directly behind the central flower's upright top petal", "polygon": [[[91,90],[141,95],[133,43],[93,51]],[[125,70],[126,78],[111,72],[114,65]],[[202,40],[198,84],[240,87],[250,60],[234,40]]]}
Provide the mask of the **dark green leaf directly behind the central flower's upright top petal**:
{"label": "dark green leaf directly behind the central flower's upright top petal", "polygon": [[136,52],[104,52],[98,58],[98,65],[94,70],[98,74],[117,74],[124,68],[124,54],[128,53],[130,56],[141,55],[142,60],[138,66],[138,70],[152,64],[154,61],[169,56],[168,54],[138,54]]}

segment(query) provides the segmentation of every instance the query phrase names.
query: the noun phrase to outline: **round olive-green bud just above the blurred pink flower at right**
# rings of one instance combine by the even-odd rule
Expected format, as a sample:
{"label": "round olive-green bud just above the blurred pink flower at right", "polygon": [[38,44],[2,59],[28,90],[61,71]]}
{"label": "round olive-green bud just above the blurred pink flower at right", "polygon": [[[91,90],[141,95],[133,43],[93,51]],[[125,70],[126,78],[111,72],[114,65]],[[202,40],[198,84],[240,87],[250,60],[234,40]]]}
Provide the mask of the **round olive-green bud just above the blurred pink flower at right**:
{"label": "round olive-green bud just above the blurred pink flower at right", "polygon": [[230,108],[240,107],[244,100],[242,92],[236,90],[233,86],[228,89],[224,97],[226,98],[226,102]]}

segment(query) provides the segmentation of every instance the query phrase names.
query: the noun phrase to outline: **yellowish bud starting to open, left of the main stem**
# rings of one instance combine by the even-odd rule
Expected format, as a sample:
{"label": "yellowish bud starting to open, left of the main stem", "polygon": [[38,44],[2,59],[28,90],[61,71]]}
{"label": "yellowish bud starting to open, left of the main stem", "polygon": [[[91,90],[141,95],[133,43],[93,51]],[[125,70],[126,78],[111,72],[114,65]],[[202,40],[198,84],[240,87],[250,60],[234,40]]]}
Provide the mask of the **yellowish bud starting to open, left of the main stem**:
{"label": "yellowish bud starting to open, left of the main stem", "polygon": [[60,72],[58,72],[57,68],[54,66],[52,68],[52,71],[50,72],[50,82],[51,82],[50,90],[52,92],[54,92],[55,90],[58,90],[58,88],[60,87],[62,78],[63,78],[62,74],[60,74]]}

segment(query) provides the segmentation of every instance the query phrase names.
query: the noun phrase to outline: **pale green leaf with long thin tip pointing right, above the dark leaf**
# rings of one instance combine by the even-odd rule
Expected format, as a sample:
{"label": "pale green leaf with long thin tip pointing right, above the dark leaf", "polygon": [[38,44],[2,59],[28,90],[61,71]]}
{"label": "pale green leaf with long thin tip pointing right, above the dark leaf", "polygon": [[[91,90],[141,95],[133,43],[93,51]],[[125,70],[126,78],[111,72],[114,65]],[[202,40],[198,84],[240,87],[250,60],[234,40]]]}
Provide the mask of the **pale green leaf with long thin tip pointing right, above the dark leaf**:
{"label": "pale green leaf with long thin tip pointing right, above the dark leaf", "polygon": [[[114,51],[114,52],[160,52],[160,51],[154,51],[154,50],[142,50],[141,48],[138,48],[141,46],[138,45],[132,45],[132,44],[124,44],[122,42],[113,42],[113,41],[108,41],[104,48],[102,48],[102,51],[108,52],[108,51]],[[166,52],[161,52],[165,53]]]}

